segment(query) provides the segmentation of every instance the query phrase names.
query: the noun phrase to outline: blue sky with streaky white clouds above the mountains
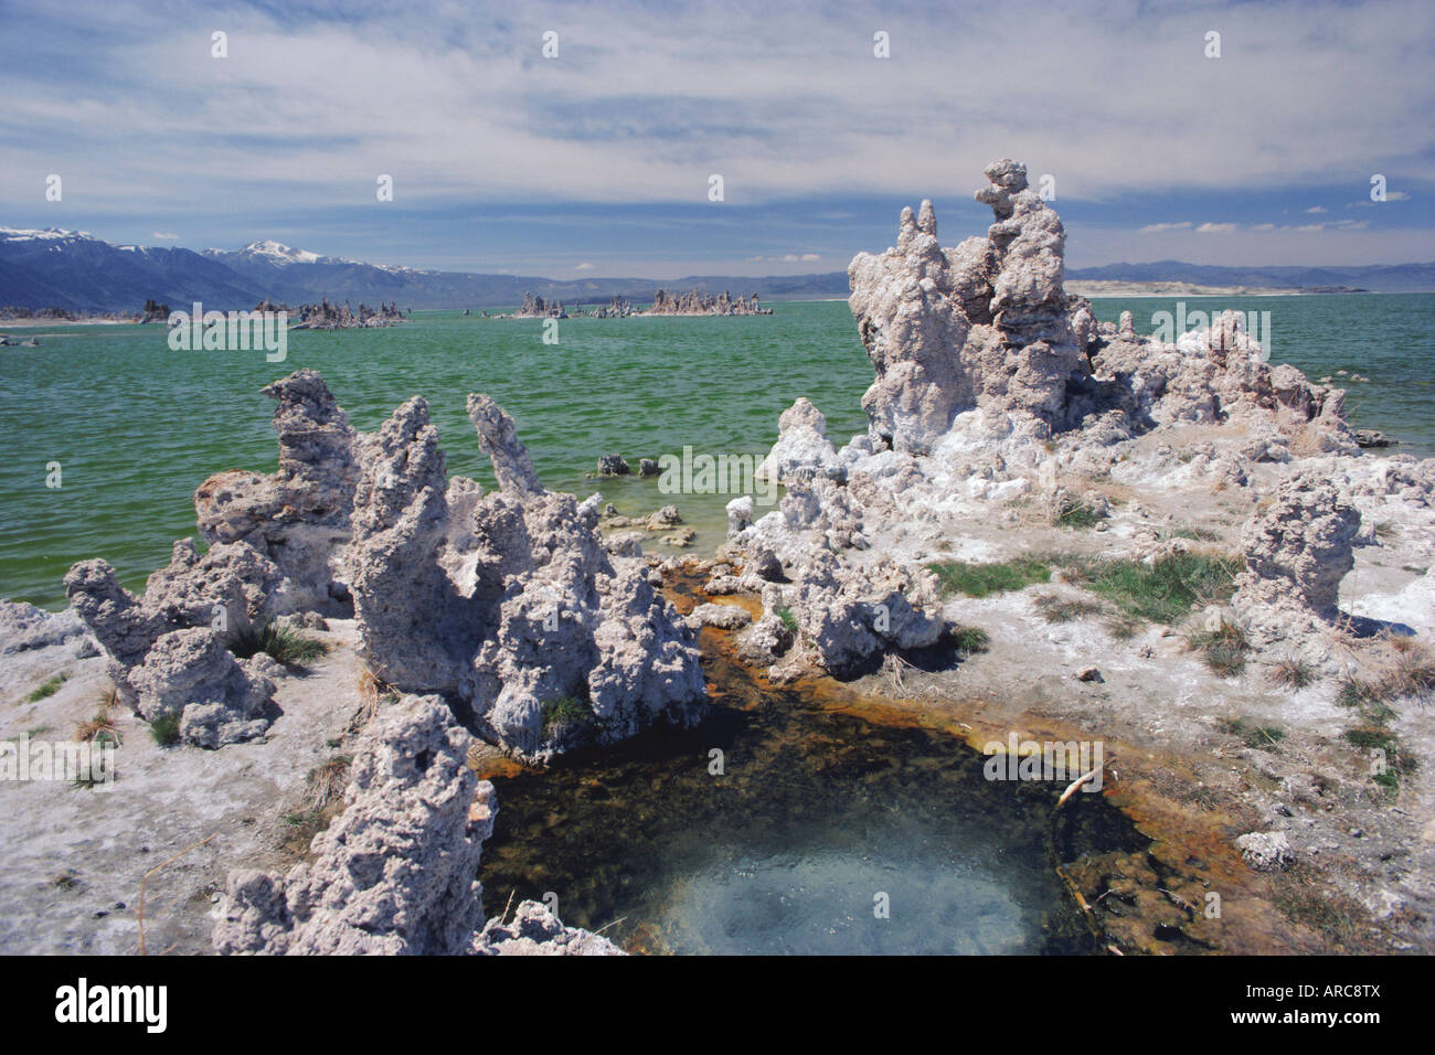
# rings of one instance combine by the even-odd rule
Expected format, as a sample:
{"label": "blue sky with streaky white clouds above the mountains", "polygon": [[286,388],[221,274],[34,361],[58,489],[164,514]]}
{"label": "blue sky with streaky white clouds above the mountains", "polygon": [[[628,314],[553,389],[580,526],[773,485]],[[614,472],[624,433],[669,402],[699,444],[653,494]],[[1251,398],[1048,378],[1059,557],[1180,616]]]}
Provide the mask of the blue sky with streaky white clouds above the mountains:
{"label": "blue sky with streaky white clouds above the mountains", "polygon": [[971,192],[1015,158],[1068,267],[1429,261],[1432,30],[1428,0],[0,0],[0,225],[805,274],[923,198],[946,244],[984,234]]}

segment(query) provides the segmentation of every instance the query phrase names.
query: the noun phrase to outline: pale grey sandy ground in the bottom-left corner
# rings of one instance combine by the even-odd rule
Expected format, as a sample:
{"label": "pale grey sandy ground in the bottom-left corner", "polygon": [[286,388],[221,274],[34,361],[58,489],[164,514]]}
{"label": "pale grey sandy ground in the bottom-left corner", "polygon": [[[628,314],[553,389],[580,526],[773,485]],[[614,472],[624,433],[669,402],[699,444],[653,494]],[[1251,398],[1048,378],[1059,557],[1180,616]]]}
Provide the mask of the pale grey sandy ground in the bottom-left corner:
{"label": "pale grey sandy ground in the bottom-left corner", "polygon": [[[0,782],[0,953],[138,952],[141,880],[177,854],[145,884],[146,950],[211,952],[211,909],[227,873],[296,860],[311,834],[296,822],[310,805],[309,774],[344,755],[357,718],[354,624],[333,620],[329,633],[307,633],[331,652],[309,673],[280,680],[283,715],[258,741],[221,751],[161,748],[121,706],[110,789]],[[109,689],[105,660],[77,659],[67,646],[20,655],[23,663],[7,657],[0,685],[0,739],[69,739]],[[60,689],[26,702],[56,672],[69,675]]]}

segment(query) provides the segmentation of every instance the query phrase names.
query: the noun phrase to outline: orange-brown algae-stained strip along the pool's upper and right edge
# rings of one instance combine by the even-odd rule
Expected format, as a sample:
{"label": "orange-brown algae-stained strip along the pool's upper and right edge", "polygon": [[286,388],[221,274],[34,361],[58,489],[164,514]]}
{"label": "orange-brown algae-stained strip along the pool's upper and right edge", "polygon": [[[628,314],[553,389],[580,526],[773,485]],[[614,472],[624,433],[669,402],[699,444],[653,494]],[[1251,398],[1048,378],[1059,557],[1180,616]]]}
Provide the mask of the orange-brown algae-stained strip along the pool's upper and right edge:
{"label": "orange-brown algae-stained strip along the pool's upper and right edge", "polygon": [[[692,570],[673,576],[663,591],[680,611],[718,600],[738,603],[753,617],[762,613],[756,597],[709,599],[702,591],[700,574]],[[1234,837],[1248,827],[1220,802],[1192,805],[1177,797],[1200,791],[1195,764],[1204,759],[1093,736],[1088,728],[1055,718],[1045,709],[1050,703],[1038,699],[877,698],[824,675],[778,686],[766,670],[736,657],[730,633],[705,627],[699,643],[709,696],[743,709],[758,706],[772,693],[789,693],[822,711],[865,722],[941,731],[983,754],[989,745],[1004,745],[1013,731],[1023,741],[1101,739],[1106,765],[1099,795],[1151,843],[1144,851],[1082,855],[1053,867],[1093,932],[1104,936],[1102,944],[1114,952],[1270,955],[1320,947],[1310,932],[1284,919],[1274,903],[1271,880],[1253,873],[1241,860]],[[1072,804],[1055,810],[1060,791],[1053,788],[1053,828],[1071,822]],[[1218,899],[1214,916],[1210,894]]]}

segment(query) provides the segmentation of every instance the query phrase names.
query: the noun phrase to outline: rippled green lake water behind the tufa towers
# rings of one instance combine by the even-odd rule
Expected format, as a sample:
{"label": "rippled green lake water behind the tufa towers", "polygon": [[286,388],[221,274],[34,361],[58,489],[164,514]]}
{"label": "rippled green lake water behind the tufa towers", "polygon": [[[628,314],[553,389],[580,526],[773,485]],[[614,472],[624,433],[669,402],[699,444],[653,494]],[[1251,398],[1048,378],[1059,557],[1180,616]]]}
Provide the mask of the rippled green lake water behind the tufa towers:
{"label": "rippled green lake water behind the tufa towers", "polygon": [[[1435,296],[1187,297],[1188,310],[1269,310],[1274,359],[1312,378],[1337,369],[1358,426],[1435,454],[1429,375]],[[1095,301],[1102,319],[1129,307],[1142,332],[1174,300]],[[320,370],[354,426],[375,429],[413,395],[429,400],[449,471],[491,482],[464,413],[469,392],[492,395],[518,422],[544,482],[601,491],[620,511],[676,501],[720,538],[732,494],[663,495],[656,478],[594,479],[598,455],[765,454],[778,416],[801,395],[842,442],[865,429],[860,399],[872,372],[844,301],[776,304],[772,316],[570,319],[558,343],[540,320],[415,314],[393,329],[298,332],[288,357],[261,352],[172,352],[162,327],[37,329],[40,347],[0,349],[0,597],[63,606],[69,566],[105,557],[131,589],[194,534],[192,492],[211,472],[271,471],[273,403],[260,388],[301,366]],[[0,327],[3,330],[4,327]],[[9,330],[17,333],[16,330]],[[46,487],[59,462],[63,487]]]}

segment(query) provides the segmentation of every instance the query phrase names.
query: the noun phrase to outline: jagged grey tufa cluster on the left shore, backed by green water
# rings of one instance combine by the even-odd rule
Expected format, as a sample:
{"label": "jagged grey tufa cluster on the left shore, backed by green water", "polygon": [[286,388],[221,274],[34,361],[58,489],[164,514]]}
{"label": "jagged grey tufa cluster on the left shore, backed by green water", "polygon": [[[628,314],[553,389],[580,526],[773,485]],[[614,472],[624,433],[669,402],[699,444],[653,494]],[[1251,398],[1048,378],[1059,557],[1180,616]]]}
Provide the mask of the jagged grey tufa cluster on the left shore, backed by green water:
{"label": "jagged grey tufa cluster on the left shore, backed by green water", "polygon": [[597,495],[542,488],[492,399],[468,400],[499,485],[484,494],[448,478],[422,398],[364,435],[313,370],[265,393],[278,471],[198,488],[208,553],[177,543],[142,597],[100,560],[66,576],[121,696],[148,721],[175,715],[182,739],[211,748],[263,733],[277,669],[230,649],[296,611],[353,614],[376,677],[443,693],[524,758],[696,718],[696,632],[641,560],[604,550]]}

